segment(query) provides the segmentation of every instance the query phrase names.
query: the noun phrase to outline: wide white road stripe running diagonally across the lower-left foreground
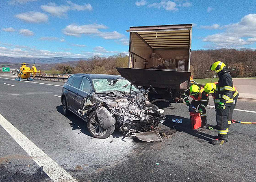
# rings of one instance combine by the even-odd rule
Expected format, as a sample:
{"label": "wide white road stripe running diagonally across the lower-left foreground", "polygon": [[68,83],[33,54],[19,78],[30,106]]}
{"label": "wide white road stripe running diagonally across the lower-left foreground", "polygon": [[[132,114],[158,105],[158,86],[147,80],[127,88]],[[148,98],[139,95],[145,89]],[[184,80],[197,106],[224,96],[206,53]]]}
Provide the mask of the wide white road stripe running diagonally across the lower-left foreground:
{"label": "wide white road stripe running diagonally across the lower-left foreground", "polygon": [[0,114],[0,125],[11,137],[25,150],[25,152],[37,163],[39,167],[43,166],[43,171],[54,182],[77,182],[67,171],[59,166],[52,158],[37,147],[22,132],[13,126],[7,119]]}

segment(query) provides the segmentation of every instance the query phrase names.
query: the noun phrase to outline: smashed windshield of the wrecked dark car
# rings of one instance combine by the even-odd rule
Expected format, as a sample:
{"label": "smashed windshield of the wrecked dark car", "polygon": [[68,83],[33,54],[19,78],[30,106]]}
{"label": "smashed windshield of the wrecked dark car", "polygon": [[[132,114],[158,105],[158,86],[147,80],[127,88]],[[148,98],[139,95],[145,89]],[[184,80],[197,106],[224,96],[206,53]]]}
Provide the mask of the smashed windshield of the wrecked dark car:
{"label": "smashed windshield of the wrecked dark car", "polygon": [[[108,91],[130,92],[130,82],[126,79],[100,78],[93,79],[93,85],[96,93]],[[134,85],[132,85],[132,93],[140,93]]]}

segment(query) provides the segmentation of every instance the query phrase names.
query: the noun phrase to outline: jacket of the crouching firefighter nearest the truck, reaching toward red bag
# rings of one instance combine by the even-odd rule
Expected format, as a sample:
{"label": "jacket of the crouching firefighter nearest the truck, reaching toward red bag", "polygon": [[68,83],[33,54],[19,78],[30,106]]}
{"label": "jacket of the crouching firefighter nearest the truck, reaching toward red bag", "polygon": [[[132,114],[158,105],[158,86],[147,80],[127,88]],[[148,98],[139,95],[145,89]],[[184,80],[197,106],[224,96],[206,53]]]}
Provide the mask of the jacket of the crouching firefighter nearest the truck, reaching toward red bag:
{"label": "jacket of the crouching firefighter nearest the truck, reaching toward red bag", "polygon": [[186,102],[187,100],[189,101],[189,96],[190,96],[193,100],[198,101],[198,102],[201,102],[199,107],[205,108],[205,107],[208,105],[209,96],[208,96],[208,94],[206,94],[206,93],[204,92],[204,88],[202,88],[202,87],[200,88],[200,93],[197,94],[197,95],[191,95],[189,89],[187,89],[187,90],[185,91],[185,93],[183,93],[183,94],[181,95],[181,97],[184,99],[185,102]]}

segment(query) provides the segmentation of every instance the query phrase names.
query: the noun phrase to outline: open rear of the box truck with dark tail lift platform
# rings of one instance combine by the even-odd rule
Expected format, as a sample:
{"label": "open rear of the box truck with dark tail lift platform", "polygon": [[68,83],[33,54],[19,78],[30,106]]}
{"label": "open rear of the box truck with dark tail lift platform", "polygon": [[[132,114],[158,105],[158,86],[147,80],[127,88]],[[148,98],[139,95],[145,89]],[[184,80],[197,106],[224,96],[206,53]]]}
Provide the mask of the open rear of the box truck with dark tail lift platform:
{"label": "open rear of the box truck with dark tail lift platform", "polygon": [[[173,101],[189,87],[192,24],[130,27],[129,68],[117,68],[137,86],[152,85]],[[164,71],[163,71],[164,70]]]}

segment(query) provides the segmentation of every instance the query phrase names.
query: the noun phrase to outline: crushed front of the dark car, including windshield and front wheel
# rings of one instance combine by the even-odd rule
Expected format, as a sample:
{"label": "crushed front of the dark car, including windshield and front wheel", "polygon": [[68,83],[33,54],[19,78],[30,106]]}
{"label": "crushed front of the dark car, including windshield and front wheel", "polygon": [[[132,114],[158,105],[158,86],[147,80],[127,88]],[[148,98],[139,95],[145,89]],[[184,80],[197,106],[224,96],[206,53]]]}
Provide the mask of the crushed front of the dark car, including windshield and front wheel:
{"label": "crushed front of the dark car, including windshield and front wheel", "polygon": [[88,115],[87,128],[93,137],[107,138],[113,127],[134,137],[136,133],[155,131],[165,119],[163,110],[148,101],[147,93],[128,80],[119,77],[92,81],[95,92],[91,98],[84,98],[78,113]]}

